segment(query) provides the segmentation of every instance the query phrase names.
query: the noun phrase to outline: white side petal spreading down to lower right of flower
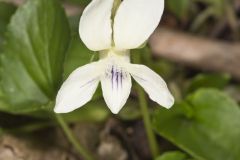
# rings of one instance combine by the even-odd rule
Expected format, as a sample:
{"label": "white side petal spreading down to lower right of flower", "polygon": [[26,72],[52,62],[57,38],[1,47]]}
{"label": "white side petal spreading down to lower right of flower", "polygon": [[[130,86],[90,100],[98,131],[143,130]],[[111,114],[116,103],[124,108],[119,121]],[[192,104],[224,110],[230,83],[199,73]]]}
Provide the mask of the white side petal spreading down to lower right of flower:
{"label": "white side petal spreading down to lower right of flower", "polygon": [[130,64],[128,71],[153,101],[165,108],[170,108],[174,104],[174,98],[169,92],[166,83],[150,68],[144,65]]}

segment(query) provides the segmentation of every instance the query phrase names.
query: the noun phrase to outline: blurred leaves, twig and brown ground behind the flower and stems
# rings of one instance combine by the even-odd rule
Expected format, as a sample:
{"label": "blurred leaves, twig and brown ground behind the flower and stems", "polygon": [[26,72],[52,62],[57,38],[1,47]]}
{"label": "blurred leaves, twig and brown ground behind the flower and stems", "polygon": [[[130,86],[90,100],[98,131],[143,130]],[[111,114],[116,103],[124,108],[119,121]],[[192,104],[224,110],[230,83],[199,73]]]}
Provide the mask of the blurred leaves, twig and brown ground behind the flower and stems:
{"label": "blurred leaves, twig and brown ground behind the flower and stems", "polygon": [[[63,80],[94,54],[78,35],[89,2],[0,0],[0,160],[84,160],[52,110]],[[99,88],[61,117],[97,160],[240,160],[239,40],[240,0],[165,0],[149,43],[133,51],[176,99],[170,110],[148,101],[157,158],[135,87],[118,115]]]}

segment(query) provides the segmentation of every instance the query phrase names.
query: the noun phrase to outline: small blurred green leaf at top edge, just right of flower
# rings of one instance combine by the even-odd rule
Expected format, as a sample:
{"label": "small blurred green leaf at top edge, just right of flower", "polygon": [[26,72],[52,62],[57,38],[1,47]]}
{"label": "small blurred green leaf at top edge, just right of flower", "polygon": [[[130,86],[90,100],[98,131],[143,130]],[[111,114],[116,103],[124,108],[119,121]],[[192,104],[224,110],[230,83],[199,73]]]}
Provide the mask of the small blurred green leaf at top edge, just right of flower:
{"label": "small blurred green leaf at top edge, just right of flower", "polygon": [[180,19],[186,18],[189,8],[190,8],[190,0],[167,0],[167,8],[171,11],[175,16]]}

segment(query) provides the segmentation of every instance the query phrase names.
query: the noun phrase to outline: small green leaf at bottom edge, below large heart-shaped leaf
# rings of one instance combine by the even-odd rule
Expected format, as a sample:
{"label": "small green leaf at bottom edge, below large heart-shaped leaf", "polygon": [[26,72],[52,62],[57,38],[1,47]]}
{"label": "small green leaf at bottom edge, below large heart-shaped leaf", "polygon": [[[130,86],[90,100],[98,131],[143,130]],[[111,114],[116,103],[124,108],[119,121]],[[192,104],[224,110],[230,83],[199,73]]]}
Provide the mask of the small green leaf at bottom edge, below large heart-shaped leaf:
{"label": "small green leaf at bottom edge, below large heart-shaped leaf", "polygon": [[179,152],[179,151],[172,151],[166,152],[162,156],[158,157],[156,160],[186,160],[187,155]]}

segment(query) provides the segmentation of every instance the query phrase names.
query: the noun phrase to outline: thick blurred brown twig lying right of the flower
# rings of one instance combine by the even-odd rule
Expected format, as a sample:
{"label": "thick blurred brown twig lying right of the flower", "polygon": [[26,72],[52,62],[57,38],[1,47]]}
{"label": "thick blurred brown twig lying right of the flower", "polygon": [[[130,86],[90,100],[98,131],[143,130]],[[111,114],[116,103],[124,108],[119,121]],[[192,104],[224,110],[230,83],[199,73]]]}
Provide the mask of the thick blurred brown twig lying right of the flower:
{"label": "thick blurred brown twig lying right of the flower", "polygon": [[208,71],[226,72],[240,80],[240,43],[210,40],[159,28],[150,38],[155,56]]}

